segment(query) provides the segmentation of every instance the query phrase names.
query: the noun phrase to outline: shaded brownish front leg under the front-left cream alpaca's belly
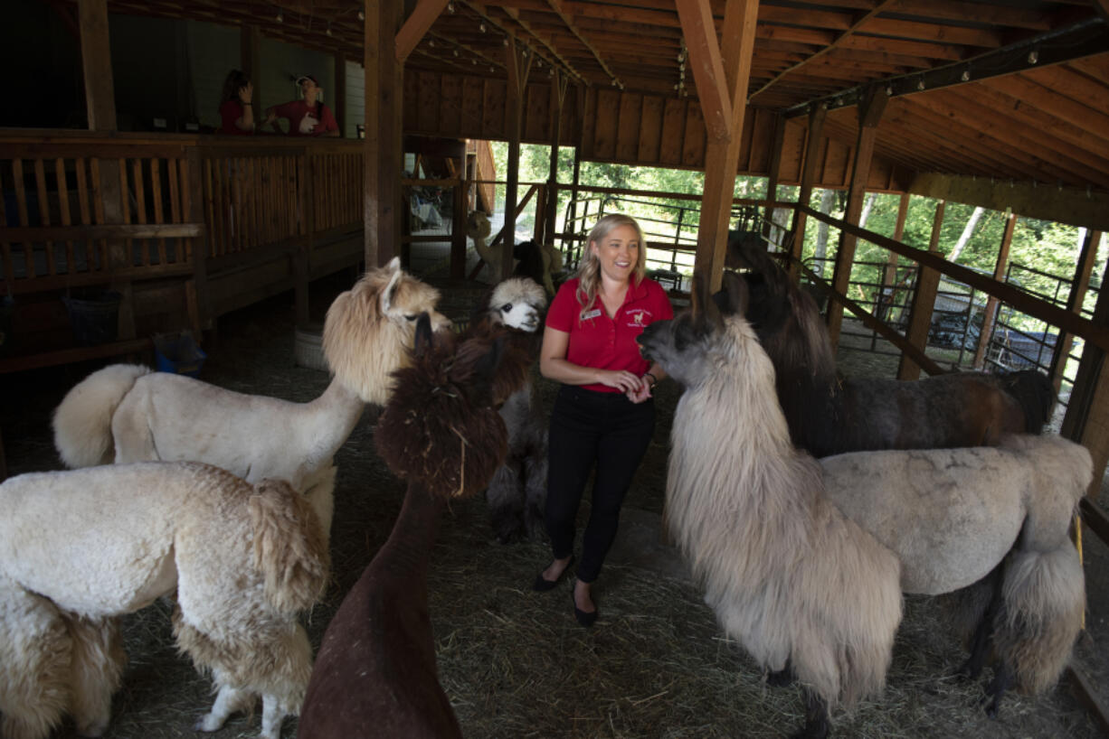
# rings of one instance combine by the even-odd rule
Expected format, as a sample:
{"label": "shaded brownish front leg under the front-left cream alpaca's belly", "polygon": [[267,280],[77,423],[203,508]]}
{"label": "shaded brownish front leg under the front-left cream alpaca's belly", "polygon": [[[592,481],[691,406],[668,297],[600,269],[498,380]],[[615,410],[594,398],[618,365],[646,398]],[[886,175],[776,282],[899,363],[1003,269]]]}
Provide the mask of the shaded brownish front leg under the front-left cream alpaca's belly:
{"label": "shaded brownish front leg under the front-left cream alpaca's belly", "polygon": [[100,737],[112,716],[112,694],[120,687],[128,656],[115,618],[63,617],[73,639],[69,680],[73,719],[82,737]]}

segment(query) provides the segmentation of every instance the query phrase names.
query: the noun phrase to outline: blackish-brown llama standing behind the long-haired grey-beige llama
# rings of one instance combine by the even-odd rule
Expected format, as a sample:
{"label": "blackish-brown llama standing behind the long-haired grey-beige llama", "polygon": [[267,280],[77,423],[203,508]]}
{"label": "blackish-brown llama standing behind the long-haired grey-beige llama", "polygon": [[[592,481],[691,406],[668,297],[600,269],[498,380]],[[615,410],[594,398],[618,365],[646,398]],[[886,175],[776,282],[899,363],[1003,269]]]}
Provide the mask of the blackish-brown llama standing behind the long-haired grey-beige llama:
{"label": "blackish-brown llama standing behind the long-haired grey-beige llama", "polygon": [[1006,433],[1039,433],[1050,417],[1055,389],[1036,371],[840,378],[812,296],[757,242],[733,240],[729,255],[752,269],[742,277],[750,292],[746,319],[774,363],[790,437],[813,456],[993,445]]}

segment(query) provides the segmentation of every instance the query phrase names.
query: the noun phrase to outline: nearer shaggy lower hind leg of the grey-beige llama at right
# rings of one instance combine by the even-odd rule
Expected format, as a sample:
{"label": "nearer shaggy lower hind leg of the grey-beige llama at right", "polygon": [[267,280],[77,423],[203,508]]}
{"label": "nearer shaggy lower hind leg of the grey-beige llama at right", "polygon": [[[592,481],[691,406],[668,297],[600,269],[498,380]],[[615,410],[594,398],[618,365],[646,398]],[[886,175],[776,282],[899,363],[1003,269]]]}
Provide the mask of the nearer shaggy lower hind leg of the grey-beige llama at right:
{"label": "nearer shaggy lower hind leg of the grey-beige llama at right", "polygon": [[1015,552],[995,619],[997,656],[1030,694],[1059,679],[1082,626],[1086,581],[1069,541],[1049,552]]}

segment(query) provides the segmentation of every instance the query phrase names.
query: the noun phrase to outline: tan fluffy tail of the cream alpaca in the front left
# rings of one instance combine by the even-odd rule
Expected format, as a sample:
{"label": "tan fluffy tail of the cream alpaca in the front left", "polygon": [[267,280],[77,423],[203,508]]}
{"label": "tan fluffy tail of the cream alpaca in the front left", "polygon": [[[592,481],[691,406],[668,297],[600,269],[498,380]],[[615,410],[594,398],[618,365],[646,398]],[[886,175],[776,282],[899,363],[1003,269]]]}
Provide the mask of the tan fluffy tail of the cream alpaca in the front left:
{"label": "tan fluffy tail of the cream alpaca in the front left", "polygon": [[263,480],[250,502],[254,567],[266,599],[282,614],[305,610],[327,587],[327,536],[312,503],[284,480]]}

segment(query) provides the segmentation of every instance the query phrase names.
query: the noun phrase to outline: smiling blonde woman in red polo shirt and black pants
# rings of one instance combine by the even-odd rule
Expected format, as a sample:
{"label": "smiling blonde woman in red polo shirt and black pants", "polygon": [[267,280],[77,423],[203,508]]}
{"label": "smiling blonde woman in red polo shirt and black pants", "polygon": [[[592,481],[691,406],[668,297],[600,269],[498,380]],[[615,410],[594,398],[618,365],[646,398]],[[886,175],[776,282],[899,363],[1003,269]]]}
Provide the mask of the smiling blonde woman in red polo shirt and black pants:
{"label": "smiling blonde woman in red polo shirt and black pants", "polygon": [[539,357],[543,377],[562,383],[551,412],[546,526],[554,561],[536,577],[553,588],[573,562],[574,519],[596,463],[592,506],[573,585],[573,613],[597,620],[591,588],[615,537],[620,505],[654,432],[651,391],[662,379],[635,343],[645,326],[673,317],[665,291],[647,279],[643,232],[624,215],[602,217],[589,234],[578,276],[547,314]]}

